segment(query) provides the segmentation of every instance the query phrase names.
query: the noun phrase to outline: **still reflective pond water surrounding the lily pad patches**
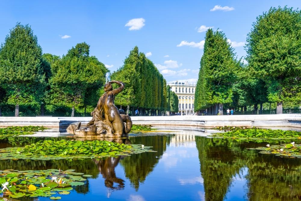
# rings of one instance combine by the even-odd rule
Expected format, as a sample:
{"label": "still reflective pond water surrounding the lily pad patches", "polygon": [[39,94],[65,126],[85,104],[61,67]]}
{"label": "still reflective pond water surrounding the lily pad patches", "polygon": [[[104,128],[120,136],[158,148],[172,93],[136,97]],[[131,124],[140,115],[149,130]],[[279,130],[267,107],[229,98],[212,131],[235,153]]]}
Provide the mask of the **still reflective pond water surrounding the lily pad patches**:
{"label": "still reflective pond water surrounding the lily pad patches", "polygon": [[[0,148],[24,146],[41,139],[7,137],[0,140]],[[300,159],[247,149],[287,142],[236,141],[175,133],[130,135],[129,140],[132,144],[153,146],[157,152],[99,160],[0,160],[0,170],[60,168],[93,175],[85,185],[62,195],[61,200],[301,199]]]}

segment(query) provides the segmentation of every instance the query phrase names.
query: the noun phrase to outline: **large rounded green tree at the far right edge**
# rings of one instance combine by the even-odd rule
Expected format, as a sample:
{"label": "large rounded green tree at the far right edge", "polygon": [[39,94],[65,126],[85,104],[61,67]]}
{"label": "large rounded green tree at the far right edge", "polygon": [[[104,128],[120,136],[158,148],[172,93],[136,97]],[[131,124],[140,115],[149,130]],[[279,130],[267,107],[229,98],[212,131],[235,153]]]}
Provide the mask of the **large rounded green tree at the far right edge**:
{"label": "large rounded green tree at the far right edge", "polygon": [[270,8],[256,18],[247,35],[247,61],[256,76],[265,80],[268,101],[301,102],[301,12]]}

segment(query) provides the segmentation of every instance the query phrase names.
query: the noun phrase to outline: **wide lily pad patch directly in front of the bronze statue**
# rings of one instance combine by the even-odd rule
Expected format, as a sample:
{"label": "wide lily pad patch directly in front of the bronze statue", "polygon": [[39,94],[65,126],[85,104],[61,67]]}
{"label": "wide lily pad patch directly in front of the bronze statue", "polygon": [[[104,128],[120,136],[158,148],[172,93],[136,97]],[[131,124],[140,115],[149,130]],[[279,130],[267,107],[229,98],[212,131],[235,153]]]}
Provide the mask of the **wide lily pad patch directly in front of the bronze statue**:
{"label": "wide lily pad patch directly in front of the bronze statue", "polygon": [[108,141],[44,140],[24,147],[0,149],[0,159],[73,159],[102,158],[150,152],[150,147],[125,145]]}

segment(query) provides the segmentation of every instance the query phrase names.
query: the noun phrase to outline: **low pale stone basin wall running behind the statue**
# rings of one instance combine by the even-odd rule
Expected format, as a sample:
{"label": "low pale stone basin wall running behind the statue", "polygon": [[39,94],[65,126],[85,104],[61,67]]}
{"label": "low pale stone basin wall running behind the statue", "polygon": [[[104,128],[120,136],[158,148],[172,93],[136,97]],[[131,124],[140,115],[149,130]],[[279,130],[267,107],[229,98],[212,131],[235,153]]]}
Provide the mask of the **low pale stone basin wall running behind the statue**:
{"label": "low pale stone basin wall running behind the statue", "polygon": [[[85,126],[92,117],[0,117],[0,127],[45,126],[54,132],[66,132],[71,123]],[[199,130],[215,126],[293,127],[301,131],[301,114],[222,115],[222,116],[138,116],[133,124],[151,124],[162,129]]]}

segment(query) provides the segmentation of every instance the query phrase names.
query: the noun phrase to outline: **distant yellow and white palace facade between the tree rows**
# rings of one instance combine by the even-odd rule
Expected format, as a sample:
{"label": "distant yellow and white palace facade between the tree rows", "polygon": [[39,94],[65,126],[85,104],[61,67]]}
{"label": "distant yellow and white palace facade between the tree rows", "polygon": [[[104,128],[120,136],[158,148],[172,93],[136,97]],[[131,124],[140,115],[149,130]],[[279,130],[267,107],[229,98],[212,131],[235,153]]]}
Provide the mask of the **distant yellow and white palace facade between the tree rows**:
{"label": "distant yellow and white palace facade between the tree rows", "polygon": [[175,83],[169,83],[169,86],[178,96],[179,113],[181,115],[194,115],[194,92],[196,85],[176,81]]}

